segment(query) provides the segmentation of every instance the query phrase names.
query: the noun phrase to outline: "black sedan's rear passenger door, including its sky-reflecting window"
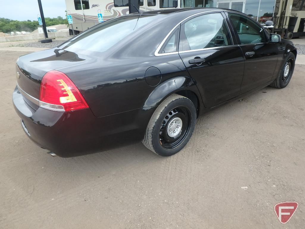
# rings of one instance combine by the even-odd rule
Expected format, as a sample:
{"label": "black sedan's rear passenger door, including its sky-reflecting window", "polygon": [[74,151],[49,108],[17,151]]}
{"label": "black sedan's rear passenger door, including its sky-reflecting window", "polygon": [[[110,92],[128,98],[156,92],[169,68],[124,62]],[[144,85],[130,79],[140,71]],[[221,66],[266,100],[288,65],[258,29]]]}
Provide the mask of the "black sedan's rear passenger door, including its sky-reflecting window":
{"label": "black sedan's rear passenger door, including its sky-reflecting window", "polygon": [[240,47],[232,42],[222,13],[205,13],[181,24],[178,53],[205,107],[239,95],[244,58]]}

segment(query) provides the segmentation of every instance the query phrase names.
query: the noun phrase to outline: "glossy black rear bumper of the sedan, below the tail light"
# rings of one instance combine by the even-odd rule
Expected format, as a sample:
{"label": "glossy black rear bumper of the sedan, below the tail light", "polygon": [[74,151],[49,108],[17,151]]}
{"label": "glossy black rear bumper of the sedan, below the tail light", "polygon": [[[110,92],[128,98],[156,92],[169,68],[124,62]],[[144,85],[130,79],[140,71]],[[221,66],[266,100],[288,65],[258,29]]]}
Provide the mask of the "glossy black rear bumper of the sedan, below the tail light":
{"label": "glossy black rear bumper of the sedan, below the tail light", "polygon": [[97,118],[90,108],[59,112],[39,107],[34,110],[18,88],[13,92],[14,108],[23,130],[40,147],[60,157],[74,157],[139,142],[155,107],[136,109]]}

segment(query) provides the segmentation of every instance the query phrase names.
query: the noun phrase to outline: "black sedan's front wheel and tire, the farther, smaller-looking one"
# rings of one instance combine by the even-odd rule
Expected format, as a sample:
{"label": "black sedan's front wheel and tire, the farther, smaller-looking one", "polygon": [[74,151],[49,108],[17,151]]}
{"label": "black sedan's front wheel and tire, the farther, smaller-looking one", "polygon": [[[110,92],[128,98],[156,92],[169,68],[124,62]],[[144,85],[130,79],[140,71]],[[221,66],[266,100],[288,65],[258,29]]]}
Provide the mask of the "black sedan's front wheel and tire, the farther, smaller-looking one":
{"label": "black sedan's front wheel and tire, the farther, smaller-looking one", "polygon": [[[285,62],[280,72],[278,73],[278,77],[274,80],[274,82],[270,84],[271,87],[284,88],[289,84],[289,81],[293,74],[295,61],[296,61],[296,57],[294,56],[293,53],[289,53],[286,56]],[[287,68],[288,68],[288,72],[287,72]]]}

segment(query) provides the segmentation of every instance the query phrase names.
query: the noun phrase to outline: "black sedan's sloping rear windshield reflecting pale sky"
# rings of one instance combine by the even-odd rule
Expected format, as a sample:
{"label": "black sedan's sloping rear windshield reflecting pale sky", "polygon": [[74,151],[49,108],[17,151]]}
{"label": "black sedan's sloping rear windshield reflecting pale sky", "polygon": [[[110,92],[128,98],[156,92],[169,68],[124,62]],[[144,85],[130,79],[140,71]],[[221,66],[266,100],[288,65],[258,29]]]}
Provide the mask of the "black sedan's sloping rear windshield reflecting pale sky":
{"label": "black sedan's sloping rear windshield reflecting pale sky", "polygon": [[146,14],[117,17],[84,31],[59,48],[86,55],[105,52],[131,33],[162,16],[164,15]]}

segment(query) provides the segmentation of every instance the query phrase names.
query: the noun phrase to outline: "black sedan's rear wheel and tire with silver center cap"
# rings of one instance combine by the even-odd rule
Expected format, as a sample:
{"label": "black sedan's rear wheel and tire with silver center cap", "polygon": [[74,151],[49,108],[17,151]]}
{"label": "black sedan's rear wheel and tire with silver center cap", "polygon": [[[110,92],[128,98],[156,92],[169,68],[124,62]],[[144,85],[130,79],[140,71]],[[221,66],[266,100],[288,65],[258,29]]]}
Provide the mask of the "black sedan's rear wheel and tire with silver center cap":
{"label": "black sedan's rear wheel and tire with silver center cap", "polygon": [[[142,143],[160,156],[178,153],[190,140],[196,124],[196,108],[191,100],[172,94],[153,113]],[[172,130],[174,126],[174,130]]]}

